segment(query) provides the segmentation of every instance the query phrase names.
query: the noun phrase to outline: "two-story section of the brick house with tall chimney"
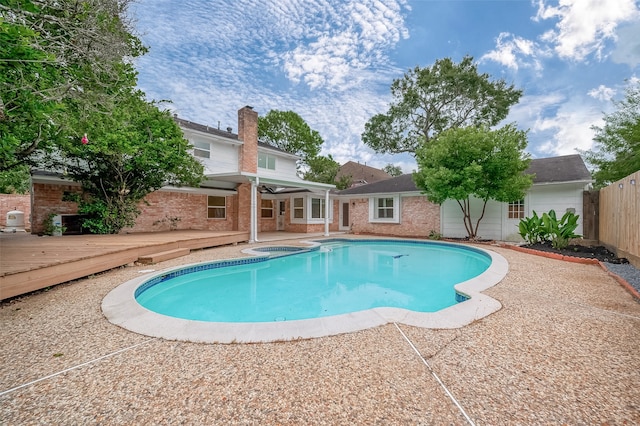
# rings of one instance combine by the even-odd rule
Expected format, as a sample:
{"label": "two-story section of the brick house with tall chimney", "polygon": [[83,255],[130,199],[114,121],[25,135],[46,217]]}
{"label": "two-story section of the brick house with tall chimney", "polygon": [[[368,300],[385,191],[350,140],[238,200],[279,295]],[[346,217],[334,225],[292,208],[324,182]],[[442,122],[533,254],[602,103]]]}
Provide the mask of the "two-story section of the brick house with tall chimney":
{"label": "two-story section of the brick house with tall chimney", "polygon": [[[238,111],[238,133],[175,118],[204,165],[199,188],[164,187],[139,204],[132,228],[123,232],[171,229],[259,232],[324,232],[336,230],[332,199],[335,188],[297,176],[299,157],[258,142],[258,113],[246,106]],[[77,206],[63,200],[79,192],[79,184],[56,173],[32,175],[31,232],[44,231],[51,214],[62,222],[77,218]]]}

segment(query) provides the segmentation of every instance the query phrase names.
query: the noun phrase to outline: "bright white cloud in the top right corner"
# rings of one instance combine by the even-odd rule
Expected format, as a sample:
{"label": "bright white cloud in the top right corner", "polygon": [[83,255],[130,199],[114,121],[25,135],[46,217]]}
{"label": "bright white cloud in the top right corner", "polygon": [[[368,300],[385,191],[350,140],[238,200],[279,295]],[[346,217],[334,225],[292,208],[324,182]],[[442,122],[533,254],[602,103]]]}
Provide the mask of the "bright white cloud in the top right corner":
{"label": "bright white cloud in the top right corner", "polygon": [[640,14],[634,0],[560,0],[555,6],[551,3],[556,4],[538,0],[534,20],[558,20],[541,40],[550,43],[561,58],[576,61],[593,53],[602,59],[605,43],[616,37],[616,27]]}

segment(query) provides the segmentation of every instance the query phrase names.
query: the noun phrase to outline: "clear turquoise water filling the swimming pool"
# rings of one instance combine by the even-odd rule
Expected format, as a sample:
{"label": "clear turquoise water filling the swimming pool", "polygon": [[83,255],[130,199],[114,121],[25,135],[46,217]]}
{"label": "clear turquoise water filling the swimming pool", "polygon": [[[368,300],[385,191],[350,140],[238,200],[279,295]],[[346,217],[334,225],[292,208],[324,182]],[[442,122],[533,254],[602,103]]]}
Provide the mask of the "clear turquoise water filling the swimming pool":
{"label": "clear turquoise water filling the swimming pool", "polygon": [[163,315],[215,322],[288,321],[377,307],[435,312],[457,303],[455,284],[490,264],[487,254],[451,244],[332,242],[172,272],[141,285],[136,300]]}

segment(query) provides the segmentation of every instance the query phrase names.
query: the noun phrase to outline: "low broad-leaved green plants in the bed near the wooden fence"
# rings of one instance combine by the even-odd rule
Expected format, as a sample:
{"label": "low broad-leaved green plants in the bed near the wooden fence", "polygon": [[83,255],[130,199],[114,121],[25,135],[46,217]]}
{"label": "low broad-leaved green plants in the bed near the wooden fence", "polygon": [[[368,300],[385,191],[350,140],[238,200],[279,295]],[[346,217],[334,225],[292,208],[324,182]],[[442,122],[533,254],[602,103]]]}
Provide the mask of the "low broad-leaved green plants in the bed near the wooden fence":
{"label": "low broad-leaved green plants in the bed near the wooden fence", "polygon": [[520,236],[529,244],[550,241],[554,248],[560,250],[566,248],[572,238],[581,237],[575,233],[578,218],[580,215],[573,212],[566,212],[558,219],[555,210],[543,213],[542,217],[534,211],[532,217],[520,220],[518,228]]}

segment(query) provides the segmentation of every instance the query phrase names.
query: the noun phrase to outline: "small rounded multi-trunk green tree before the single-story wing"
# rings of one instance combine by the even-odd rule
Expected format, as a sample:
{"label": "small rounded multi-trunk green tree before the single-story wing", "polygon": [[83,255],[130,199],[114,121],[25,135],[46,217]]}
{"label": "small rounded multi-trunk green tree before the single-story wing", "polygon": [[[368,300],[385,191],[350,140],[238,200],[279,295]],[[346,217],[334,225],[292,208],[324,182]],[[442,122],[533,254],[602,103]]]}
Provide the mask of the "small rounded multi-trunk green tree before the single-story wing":
{"label": "small rounded multi-trunk green tree before the single-story wing", "polygon": [[[526,146],[526,132],[513,125],[497,130],[485,126],[445,130],[416,151],[414,181],[436,204],[455,200],[468,237],[476,239],[489,200],[517,201],[531,186],[532,176],[523,173],[529,165]],[[471,214],[473,198],[482,205],[477,219]]]}

